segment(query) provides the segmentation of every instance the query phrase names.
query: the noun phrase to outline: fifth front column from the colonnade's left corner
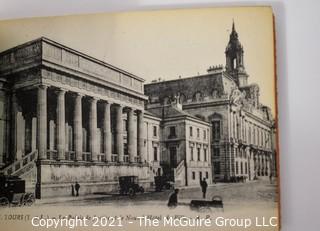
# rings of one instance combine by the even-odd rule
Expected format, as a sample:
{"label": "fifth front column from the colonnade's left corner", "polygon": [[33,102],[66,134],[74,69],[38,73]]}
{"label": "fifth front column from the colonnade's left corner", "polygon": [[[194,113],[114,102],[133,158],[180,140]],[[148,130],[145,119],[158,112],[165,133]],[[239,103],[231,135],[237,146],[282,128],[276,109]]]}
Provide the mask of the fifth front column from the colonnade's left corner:
{"label": "fifth front column from the colonnade's left corner", "polygon": [[104,104],[104,120],[103,120],[103,145],[104,145],[104,154],[106,156],[106,161],[111,162],[111,111],[110,111],[110,103],[105,102]]}

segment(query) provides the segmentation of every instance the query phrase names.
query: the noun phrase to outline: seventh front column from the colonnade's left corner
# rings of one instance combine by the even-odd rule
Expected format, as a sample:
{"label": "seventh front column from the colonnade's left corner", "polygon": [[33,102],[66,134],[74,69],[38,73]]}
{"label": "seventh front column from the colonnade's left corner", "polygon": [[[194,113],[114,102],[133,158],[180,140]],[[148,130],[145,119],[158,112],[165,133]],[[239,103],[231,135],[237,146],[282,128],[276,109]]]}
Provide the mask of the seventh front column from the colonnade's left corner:
{"label": "seventh front column from the colonnade's left corner", "polygon": [[137,127],[134,125],[134,112],[132,108],[128,109],[128,153],[131,163],[137,156],[137,138],[135,137]]}

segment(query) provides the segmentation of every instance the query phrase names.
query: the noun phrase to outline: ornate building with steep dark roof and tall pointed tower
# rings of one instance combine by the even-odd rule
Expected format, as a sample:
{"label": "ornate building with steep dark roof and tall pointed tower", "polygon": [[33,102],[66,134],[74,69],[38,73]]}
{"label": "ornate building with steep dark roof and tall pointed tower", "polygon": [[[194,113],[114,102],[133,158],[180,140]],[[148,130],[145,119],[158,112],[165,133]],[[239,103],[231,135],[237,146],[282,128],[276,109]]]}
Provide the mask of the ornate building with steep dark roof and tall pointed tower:
{"label": "ornate building with steep dark roof and tall pointed tower", "polygon": [[215,180],[252,180],[274,171],[274,119],[270,108],[259,101],[259,86],[248,83],[243,54],[233,24],[225,68],[213,66],[205,75],[145,85],[147,108],[163,108],[178,100],[184,112],[211,124]]}

